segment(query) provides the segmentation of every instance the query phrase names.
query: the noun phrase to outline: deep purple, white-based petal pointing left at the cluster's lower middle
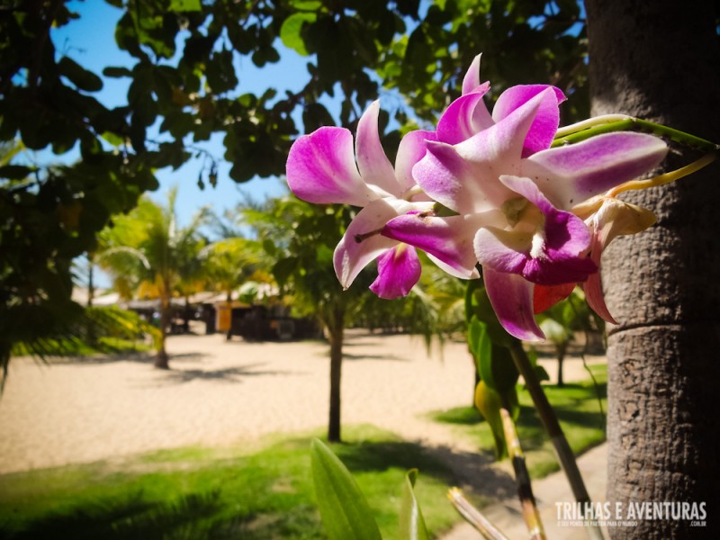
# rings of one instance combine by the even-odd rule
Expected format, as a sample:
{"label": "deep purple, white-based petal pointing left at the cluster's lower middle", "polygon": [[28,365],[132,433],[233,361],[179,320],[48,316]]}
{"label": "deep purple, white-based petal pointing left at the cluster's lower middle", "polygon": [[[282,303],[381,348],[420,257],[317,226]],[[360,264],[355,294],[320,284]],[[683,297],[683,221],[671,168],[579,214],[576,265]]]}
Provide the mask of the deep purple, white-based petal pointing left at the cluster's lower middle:
{"label": "deep purple, white-based petal pointing left at the cluster's lower middle", "polygon": [[419,247],[449,267],[453,275],[469,279],[477,275],[473,238],[484,219],[487,216],[482,214],[438,218],[410,212],[388,221],[383,236]]}

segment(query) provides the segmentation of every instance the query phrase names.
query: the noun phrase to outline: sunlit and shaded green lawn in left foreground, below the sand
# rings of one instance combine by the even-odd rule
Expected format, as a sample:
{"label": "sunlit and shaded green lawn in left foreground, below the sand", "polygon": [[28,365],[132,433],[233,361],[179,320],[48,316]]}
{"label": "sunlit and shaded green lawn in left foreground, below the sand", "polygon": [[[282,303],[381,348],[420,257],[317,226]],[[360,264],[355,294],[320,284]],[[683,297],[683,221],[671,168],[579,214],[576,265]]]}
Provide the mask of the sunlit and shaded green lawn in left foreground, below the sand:
{"label": "sunlit and shaded green lawn in left foreground, below the sand", "polygon": [[[318,434],[313,434],[318,435]],[[364,491],[383,537],[397,537],[407,469],[428,527],[457,520],[451,473],[421,446],[376,428],[346,428],[332,445]],[[311,436],[200,447],[0,476],[0,538],[322,538],[310,471]]]}

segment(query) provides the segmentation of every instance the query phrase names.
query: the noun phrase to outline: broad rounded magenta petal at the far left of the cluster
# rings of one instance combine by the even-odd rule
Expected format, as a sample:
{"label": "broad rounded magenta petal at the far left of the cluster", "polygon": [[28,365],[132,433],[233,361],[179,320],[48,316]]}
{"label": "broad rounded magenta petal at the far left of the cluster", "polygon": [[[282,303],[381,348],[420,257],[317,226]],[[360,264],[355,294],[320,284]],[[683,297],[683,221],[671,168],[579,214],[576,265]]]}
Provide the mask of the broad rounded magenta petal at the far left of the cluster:
{"label": "broad rounded magenta petal at the far left of the cluster", "polygon": [[287,157],[287,183],[303,201],[365,206],[378,195],[357,172],[353,135],[325,127],[297,139]]}

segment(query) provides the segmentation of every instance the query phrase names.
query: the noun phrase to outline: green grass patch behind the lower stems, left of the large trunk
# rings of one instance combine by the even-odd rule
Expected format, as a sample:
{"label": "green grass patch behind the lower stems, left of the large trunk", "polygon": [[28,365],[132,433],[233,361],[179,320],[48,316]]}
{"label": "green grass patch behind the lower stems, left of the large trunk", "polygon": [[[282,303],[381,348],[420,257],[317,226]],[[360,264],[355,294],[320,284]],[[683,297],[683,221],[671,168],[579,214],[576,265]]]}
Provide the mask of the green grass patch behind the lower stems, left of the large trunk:
{"label": "green grass patch behind the lower stems, left of the large trunk", "polygon": [[[605,441],[605,410],[608,403],[608,368],[606,365],[591,365],[595,382],[590,379],[581,383],[565,383],[563,388],[544,384],[545,395],[550,401],[563,427],[572,451],[579,455],[592,446]],[[527,468],[532,478],[542,478],[559,470],[553,445],[545,434],[530,394],[520,387],[520,416],[518,436],[526,455]],[[602,403],[602,407],[600,406]],[[488,455],[493,454],[493,440],[490,426],[474,407],[461,407],[436,412],[432,419],[455,425],[458,437],[470,437],[478,441],[480,448]]]}

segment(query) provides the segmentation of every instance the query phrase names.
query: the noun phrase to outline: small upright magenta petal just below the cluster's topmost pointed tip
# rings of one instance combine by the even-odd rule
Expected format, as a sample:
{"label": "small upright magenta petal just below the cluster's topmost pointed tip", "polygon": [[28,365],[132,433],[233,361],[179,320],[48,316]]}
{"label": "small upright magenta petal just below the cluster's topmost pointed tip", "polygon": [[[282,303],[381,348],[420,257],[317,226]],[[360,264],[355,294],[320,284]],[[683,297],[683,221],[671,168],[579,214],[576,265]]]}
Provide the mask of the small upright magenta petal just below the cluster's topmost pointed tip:
{"label": "small upright magenta petal just below the cluster's topmost pointed tip", "polygon": [[495,122],[482,101],[482,96],[490,89],[485,83],[472,94],[457,98],[437,121],[437,140],[447,144],[457,144],[470,139],[481,130],[486,130]]}

